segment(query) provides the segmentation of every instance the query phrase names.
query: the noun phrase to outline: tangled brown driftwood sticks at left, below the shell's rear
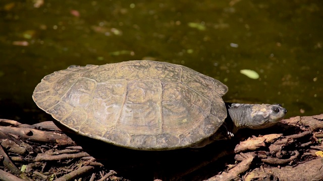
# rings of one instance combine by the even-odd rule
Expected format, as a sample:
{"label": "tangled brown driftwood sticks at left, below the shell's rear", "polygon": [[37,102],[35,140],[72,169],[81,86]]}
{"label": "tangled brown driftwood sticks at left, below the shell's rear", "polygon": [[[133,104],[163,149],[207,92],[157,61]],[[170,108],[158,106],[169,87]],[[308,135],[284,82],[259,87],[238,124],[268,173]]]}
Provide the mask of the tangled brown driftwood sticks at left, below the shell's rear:
{"label": "tangled brown driftwood sticks at left, below the shell's rear", "polygon": [[[3,157],[2,163],[5,168],[9,170],[6,172],[0,169],[0,180],[34,180],[29,178],[25,172],[29,173],[29,176],[35,178],[41,177],[43,180],[53,180],[52,178],[56,177],[56,175],[62,174],[61,177],[55,179],[58,181],[62,180],[74,180],[76,177],[81,176],[87,172],[90,172],[94,169],[94,166],[101,167],[103,164],[96,162],[93,157],[91,157],[88,153],[82,151],[81,146],[75,145],[75,142],[72,141],[70,137],[61,132],[61,129],[58,128],[53,122],[42,122],[35,125],[26,125],[20,124],[17,121],[13,120],[4,120],[0,119],[0,158]],[[15,126],[15,127],[10,127]],[[42,130],[38,130],[42,129]],[[45,130],[45,131],[44,131]],[[55,132],[51,132],[51,131]],[[17,139],[20,138],[20,139]],[[57,146],[66,146],[66,149],[55,150],[49,149],[44,153],[38,153],[32,160],[31,163],[27,166],[25,165],[25,172],[21,171],[16,165],[13,163],[12,158],[16,158],[15,156],[11,156],[11,158],[6,154],[5,150],[3,150],[3,146],[7,149],[7,151],[15,153],[15,154],[27,154],[28,148],[32,148],[27,143],[24,143],[21,139],[26,139],[28,142],[39,142],[45,144],[53,144],[53,147]],[[83,164],[84,166],[77,169],[64,169],[63,172],[40,172],[37,170],[33,170],[35,167],[46,166],[40,161],[63,161],[63,160],[71,160],[77,158],[84,158],[85,160],[80,162],[79,164]],[[93,161],[88,161],[91,159]],[[23,159],[20,159],[22,161]],[[94,166],[93,166],[94,165]],[[64,172],[69,171],[68,174],[64,174]],[[115,171],[110,171],[105,178],[116,174]],[[34,175],[34,176],[33,176]],[[20,178],[19,178],[20,177]],[[95,177],[95,174],[92,176]]]}

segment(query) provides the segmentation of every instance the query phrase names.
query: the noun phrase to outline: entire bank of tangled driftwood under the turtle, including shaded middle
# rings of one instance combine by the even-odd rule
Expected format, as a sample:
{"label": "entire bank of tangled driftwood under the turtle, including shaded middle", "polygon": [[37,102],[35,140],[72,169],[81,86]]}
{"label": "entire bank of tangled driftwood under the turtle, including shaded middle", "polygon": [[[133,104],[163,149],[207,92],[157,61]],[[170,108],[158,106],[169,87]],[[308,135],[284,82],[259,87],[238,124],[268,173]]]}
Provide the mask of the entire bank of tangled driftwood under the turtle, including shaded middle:
{"label": "entire bank of tangled driftwood under the turtle, including shaded middle", "polygon": [[145,152],[0,119],[0,179],[322,180],[321,130],[323,114],[293,117],[202,149]]}

